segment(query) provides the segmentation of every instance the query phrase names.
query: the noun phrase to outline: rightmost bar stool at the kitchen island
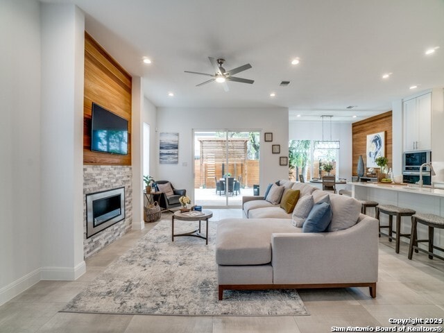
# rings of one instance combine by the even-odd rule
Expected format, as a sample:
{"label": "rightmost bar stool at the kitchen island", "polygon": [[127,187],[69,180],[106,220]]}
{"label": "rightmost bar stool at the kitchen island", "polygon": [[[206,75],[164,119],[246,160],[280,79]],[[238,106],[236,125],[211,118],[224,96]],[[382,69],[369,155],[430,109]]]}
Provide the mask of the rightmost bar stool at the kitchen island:
{"label": "rightmost bar stool at the kitchen island", "polygon": [[[417,225],[418,223],[427,225],[429,227],[429,239],[418,239]],[[434,230],[435,228],[444,229],[444,217],[438,216],[435,214],[422,214],[416,213],[411,216],[411,237],[409,244],[409,259],[413,256],[413,248],[415,252],[418,253],[418,250],[427,253],[429,255],[429,259],[433,259],[433,257],[437,257],[439,259],[444,260],[444,257],[440,255],[436,255],[433,253],[433,249],[444,251],[444,248],[438,248],[438,246],[434,246],[433,238],[434,238]],[[423,248],[418,247],[418,243],[427,242],[429,243],[429,250],[424,250]]]}

